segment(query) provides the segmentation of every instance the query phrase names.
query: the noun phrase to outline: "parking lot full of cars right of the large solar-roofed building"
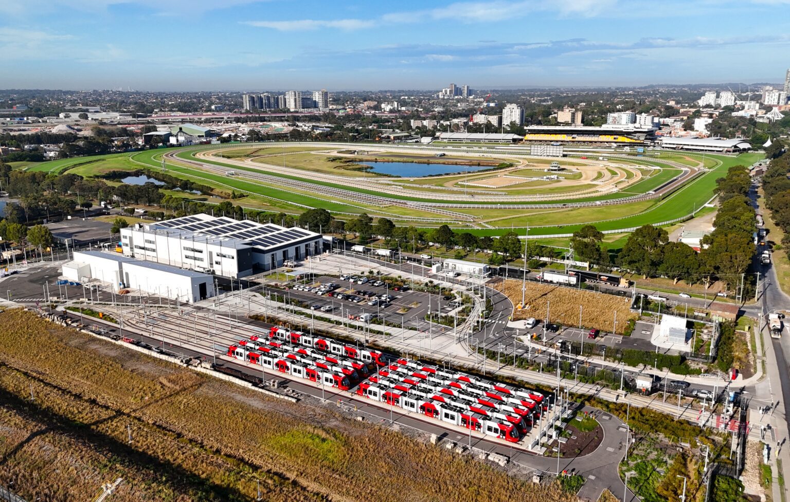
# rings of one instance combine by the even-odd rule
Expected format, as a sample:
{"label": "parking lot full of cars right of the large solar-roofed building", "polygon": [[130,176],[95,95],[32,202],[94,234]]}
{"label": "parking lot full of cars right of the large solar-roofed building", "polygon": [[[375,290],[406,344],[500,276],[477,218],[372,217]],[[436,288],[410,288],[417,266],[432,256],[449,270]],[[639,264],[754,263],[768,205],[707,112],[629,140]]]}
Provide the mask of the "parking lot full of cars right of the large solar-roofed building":
{"label": "parking lot full of cars right of the large solar-roofed building", "polygon": [[[351,281],[353,277],[361,276],[341,277],[344,280],[319,276],[303,281],[303,285],[295,281],[288,285],[285,295],[310,305],[316,315],[333,314],[343,319],[349,319],[349,316],[351,319],[371,319],[371,316],[376,316],[389,323],[419,330],[429,327],[425,320],[429,311],[447,315],[458,306],[451,303],[453,299],[450,297],[412,291],[408,285],[404,290],[383,281],[365,281],[363,284]],[[329,284],[333,287],[326,289]]]}

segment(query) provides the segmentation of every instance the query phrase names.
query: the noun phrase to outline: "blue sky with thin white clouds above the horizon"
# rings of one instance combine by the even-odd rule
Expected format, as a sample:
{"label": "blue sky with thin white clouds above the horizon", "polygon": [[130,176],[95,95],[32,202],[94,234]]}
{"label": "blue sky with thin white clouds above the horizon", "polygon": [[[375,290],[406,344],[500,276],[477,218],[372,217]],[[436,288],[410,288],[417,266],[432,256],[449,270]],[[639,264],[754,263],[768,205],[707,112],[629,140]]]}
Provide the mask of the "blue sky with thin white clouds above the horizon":
{"label": "blue sky with thin white clouds above the horizon", "polygon": [[0,89],[784,80],[790,0],[0,0]]}

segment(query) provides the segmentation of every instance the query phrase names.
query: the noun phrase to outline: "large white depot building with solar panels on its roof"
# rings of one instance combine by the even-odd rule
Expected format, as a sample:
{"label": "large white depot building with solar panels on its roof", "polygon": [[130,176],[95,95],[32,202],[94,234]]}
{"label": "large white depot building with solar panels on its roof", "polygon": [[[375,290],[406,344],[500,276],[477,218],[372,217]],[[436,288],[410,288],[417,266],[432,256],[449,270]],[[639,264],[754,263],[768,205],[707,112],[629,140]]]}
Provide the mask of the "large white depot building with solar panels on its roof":
{"label": "large white depot building with solar panels on its roof", "polygon": [[224,277],[245,277],[323,252],[323,236],[304,228],[208,214],[121,229],[123,254]]}

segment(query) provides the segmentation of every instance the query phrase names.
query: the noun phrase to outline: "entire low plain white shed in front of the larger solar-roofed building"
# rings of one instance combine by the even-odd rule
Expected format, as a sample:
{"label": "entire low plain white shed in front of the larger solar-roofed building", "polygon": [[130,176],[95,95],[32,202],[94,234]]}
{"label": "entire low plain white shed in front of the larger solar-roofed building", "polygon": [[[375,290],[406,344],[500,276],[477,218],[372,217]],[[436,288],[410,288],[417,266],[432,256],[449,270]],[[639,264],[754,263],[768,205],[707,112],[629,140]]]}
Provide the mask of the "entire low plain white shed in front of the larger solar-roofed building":
{"label": "entire low plain white shed in front of the larger solar-roofed building", "polygon": [[184,303],[215,295],[214,278],[209,274],[144,262],[110,251],[74,251],[73,261],[62,266],[62,277],[71,281],[102,281],[115,292],[137,289]]}

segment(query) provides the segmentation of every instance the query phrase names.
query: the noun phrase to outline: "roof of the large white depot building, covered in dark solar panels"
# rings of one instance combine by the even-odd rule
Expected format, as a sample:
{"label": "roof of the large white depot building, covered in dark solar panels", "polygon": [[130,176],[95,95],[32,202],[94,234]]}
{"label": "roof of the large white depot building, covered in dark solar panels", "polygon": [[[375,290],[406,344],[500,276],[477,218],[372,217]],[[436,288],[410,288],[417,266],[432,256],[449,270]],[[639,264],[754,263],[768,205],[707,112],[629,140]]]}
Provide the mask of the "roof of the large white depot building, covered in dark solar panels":
{"label": "roof of the large white depot building, covered in dark solar panels", "polygon": [[198,235],[228,237],[263,249],[322,238],[321,234],[304,228],[285,228],[273,223],[257,223],[251,220],[236,221],[209,214],[194,214],[173,220],[157,221],[149,224],[149,228],[171,228]]}

